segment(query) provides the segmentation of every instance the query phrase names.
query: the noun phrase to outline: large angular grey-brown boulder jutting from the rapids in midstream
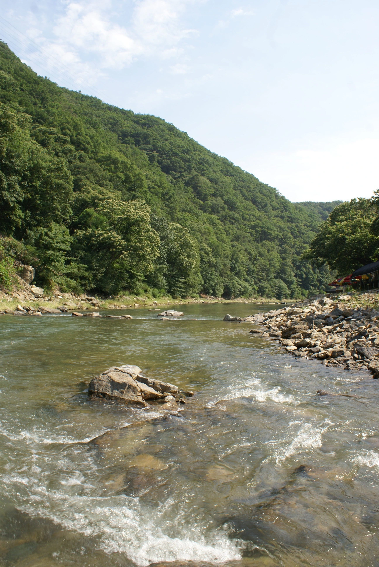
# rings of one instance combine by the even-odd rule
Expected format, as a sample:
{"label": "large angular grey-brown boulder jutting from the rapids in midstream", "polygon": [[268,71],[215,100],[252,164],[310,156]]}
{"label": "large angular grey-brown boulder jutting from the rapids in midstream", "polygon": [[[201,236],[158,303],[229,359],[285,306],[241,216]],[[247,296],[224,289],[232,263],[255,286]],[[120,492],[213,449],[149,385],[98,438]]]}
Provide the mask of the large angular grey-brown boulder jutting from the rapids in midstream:
{"label": "large angular grey-brown boulder jutting from the rapids in midstream", "polygon": [[160,403],[159,409],[177,409],[185,403],[182,396],[193,392],[180,392],[177,386],[142,376],[142,370],[134,365],[112,366],[103,374],[92,378],[88,395],[120,400],[127,404],[148,407],[151,402]]}

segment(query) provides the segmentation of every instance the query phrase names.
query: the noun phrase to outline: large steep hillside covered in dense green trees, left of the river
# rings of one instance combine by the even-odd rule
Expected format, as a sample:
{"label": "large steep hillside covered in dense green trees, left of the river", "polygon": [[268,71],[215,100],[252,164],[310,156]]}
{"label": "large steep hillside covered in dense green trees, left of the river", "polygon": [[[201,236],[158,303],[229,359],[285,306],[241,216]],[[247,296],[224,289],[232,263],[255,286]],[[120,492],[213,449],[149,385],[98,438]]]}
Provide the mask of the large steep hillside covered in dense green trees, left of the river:
{"label": "large steep hillside covered in dense green trees, left of the river", "polygon": [[0,43],[0,277],[224,297],[300,297],[320,215],[155,116],[58,87]]}

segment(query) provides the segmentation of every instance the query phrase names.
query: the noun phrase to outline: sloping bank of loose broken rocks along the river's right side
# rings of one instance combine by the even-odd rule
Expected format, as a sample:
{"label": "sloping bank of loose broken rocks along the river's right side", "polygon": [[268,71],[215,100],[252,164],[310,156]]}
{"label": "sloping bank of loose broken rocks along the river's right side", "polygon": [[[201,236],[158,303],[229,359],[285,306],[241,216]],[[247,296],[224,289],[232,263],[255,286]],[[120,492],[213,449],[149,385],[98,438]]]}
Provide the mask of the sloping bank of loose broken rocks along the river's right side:
{"label": "sloping bank of loose broken rocks along the river's right side", "polygon": [[376,293],[319,297],[246,317],[250,333],[277,340],[296,358],[346,370],[367,369],[379,378],[379,311]]}

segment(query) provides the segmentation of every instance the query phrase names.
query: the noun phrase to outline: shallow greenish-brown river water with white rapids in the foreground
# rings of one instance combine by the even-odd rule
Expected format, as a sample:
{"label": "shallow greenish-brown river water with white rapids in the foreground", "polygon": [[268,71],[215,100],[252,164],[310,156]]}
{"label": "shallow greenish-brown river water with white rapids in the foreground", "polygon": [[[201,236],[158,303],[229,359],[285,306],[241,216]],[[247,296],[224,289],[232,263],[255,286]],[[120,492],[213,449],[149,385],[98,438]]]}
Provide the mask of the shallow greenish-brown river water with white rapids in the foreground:
{"label": "shallow greenish-brown river water with white rapids in the foreground", "polygon": [[[378,566],[379,380],[222,321],[267,308],[2,316],[0,565]],[[121,364],[195,396],[89,400]]]}

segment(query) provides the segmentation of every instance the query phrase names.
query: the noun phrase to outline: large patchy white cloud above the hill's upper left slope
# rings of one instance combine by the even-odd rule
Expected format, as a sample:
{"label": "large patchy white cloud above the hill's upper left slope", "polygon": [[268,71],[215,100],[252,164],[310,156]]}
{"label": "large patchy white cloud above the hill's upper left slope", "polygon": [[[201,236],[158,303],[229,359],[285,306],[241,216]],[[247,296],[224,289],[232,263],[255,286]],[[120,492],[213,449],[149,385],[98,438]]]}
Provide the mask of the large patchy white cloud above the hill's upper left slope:
{"label": "large patchy white cloud above the hill's upper left slope", "polygon": [[[75,70],[77,84],[95,82],[105,77],[105,70],[122,69],[140,56],[179,56],[182,49],[178,44],[196,33],[181,25],[181,16],[186,7],[199,1],[137,0],[131,15],[116,22],[112,0],[67,0],[63,14],[52,26],[51,39],[46,39],[48,33],[40,29],[40,21],[33,15],[28,36],[44,51],[47,69],[60,67],[65,76],[63,64]],[[38,57],[38,53],[29,56],[31,61]],[[172,73],[186,73],[185,66],[173,66]]]}

